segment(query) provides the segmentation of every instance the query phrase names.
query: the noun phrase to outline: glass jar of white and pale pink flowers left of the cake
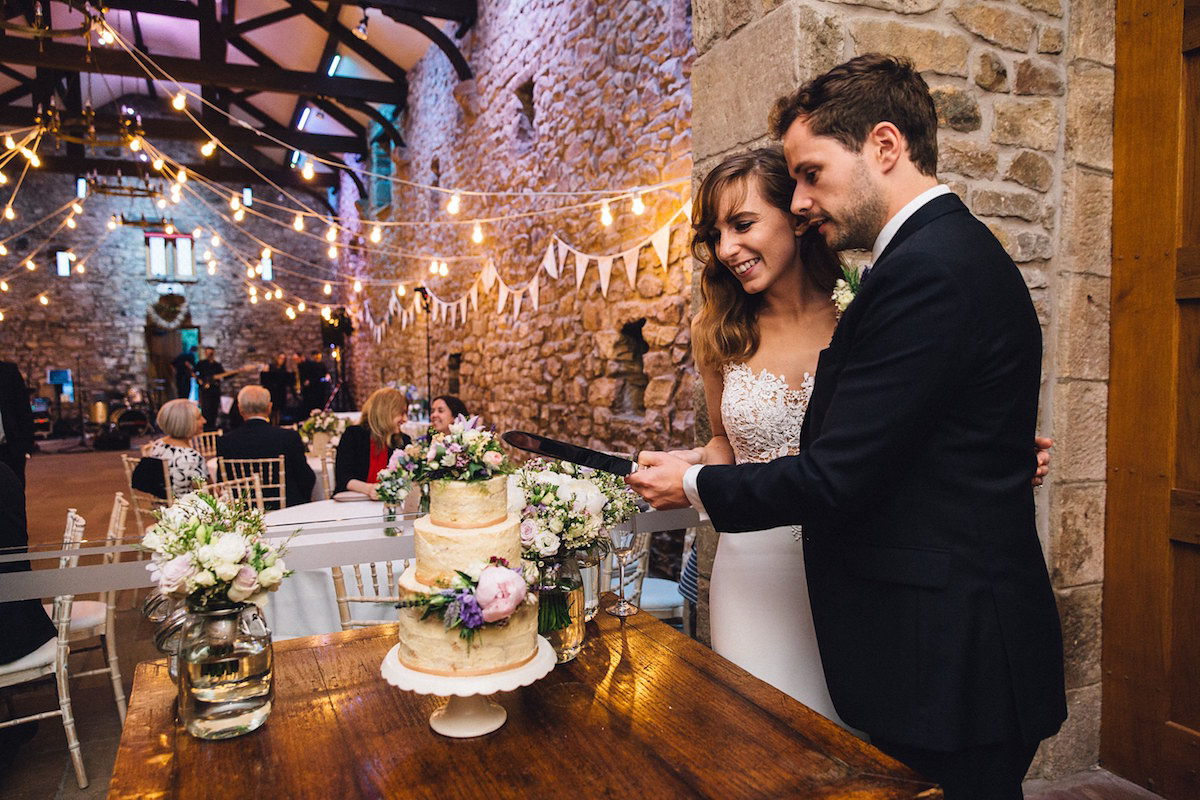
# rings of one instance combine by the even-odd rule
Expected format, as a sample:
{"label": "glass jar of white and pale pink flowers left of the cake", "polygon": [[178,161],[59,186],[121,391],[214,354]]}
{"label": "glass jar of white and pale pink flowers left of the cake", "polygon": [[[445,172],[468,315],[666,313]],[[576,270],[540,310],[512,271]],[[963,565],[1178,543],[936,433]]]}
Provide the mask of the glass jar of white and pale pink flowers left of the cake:
{"label": "glass jar of white and pale pink flowers left of the cake", "polygon": [[158,591],[184,599],[179,716],[199,739],[262,726],[275,696],[271,631],[262,606],[289,575],[284,545],[264,539],[263,515],[204,493],[158,512],[142,547]]}

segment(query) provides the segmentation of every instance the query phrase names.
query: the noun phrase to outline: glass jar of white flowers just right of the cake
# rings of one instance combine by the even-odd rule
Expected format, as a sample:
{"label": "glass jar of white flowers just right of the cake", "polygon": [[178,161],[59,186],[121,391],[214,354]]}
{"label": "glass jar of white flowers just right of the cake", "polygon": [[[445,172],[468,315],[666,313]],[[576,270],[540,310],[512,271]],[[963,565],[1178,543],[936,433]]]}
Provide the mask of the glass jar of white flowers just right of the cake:
{"label": "glass jar of white flowers just right of the cake", "polygon": [[[599,559],[608,552],[608,528],[629,519],[636,505],[616,475],[568,462],[532,458],[520,469],[517,485],[524,495],[521,546],[539,571],[538,632],[554,646],[562,663],[583,648],[588,604],[593,609],[599,604],[595,584]],[[594,561],[595,575],[587,582],[580,571],[581,555]]]}

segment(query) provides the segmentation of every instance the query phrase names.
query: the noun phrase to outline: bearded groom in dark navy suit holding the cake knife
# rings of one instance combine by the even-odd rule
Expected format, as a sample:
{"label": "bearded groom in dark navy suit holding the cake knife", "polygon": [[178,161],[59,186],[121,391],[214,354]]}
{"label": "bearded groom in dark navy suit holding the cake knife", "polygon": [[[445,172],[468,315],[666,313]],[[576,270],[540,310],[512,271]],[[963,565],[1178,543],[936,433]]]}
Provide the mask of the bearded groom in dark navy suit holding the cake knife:
{"label": "bearded groom in dark navy suit holding the cake knife", "polygon": [[833,248],[874,255],[821,354],[800,455],[689,468],[643,452],[629,483],[721,531],[802,523],[841,718],[948,800],[1020,798],[1067,715],[1030,486],[1042,332],[1028,290],[938,185],[937,116],[908,62],[834,67],[780,98],[772,133],[792,211]]}

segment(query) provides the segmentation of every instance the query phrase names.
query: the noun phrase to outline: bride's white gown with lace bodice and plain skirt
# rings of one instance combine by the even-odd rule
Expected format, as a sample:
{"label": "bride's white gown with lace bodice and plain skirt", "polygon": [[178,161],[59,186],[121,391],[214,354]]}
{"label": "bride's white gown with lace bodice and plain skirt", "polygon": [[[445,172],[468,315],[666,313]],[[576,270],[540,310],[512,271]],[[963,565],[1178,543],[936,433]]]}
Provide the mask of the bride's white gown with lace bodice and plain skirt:
{"label": "bride's white gown with lace bodice and plain skirt", "polygon": [[[737,463],[799,451],[812,377],[788,389],[776,375],[727,365],[721,421]],[[834,712],[812,630],[799,528],[721,534],[709,585],[713,649],[750,674],[846,727]]]}

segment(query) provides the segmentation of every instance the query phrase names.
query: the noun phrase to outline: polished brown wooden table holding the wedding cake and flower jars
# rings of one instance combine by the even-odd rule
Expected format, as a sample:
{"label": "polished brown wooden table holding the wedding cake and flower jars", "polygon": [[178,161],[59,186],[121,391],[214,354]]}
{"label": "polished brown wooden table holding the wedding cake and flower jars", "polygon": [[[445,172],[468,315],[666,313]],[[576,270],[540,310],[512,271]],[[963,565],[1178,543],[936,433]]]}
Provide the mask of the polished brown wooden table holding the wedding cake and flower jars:
{"label": "polished brown wooden table holding the wedding cake and flower jars", "polygon": [[395,638],[385,625],[276,643],[271,717],[227,741],[187,735],[166,662],[138,664],[108,796],[942,796],[649,614],[601,612],[574,662],[496,697],[508,722],[478,739],[436,734],[445,700],[380,678]]}

